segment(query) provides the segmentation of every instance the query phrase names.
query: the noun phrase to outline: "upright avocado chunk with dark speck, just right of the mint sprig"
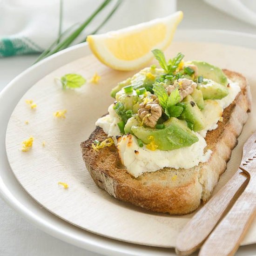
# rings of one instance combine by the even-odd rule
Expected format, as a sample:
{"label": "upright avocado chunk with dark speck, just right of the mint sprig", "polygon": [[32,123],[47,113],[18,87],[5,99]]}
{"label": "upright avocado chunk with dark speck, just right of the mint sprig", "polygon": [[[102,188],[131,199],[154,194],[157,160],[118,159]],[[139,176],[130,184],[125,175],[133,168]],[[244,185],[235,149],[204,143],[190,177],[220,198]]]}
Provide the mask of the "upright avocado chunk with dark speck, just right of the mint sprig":
{"label": "upright avocado chunk with dark speck, just right of the mint sprig", "polygon": [[193,123],[193,130],[195,132],[202,130],[205,127],[205,121],[201,110],[198,108],[193,98],[188,95],[182,103],[184,104],[184,108],[180,118]]}

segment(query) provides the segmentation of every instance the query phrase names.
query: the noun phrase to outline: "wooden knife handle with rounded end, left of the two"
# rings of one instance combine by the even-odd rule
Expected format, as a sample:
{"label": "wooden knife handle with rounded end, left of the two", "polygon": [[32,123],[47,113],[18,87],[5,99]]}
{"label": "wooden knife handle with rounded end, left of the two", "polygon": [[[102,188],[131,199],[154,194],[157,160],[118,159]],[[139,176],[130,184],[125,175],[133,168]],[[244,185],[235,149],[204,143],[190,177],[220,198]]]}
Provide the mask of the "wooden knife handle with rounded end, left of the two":
{"label": "wooden knife handle with rounded end, left of the two", "polygon": [[248,181],[248,175],[239,169],[179,233],[175,249],[177,254],[189,255],[202,245],[224,213],[241,195]]}

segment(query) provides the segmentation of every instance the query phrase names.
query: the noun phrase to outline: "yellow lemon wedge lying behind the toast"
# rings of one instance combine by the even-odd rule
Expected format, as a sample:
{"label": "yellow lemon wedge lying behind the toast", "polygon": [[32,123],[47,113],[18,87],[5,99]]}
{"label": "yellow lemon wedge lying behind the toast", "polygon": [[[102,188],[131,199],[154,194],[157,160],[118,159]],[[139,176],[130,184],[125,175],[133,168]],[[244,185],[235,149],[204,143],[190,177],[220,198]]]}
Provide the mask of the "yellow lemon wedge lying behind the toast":
{"label": "yellow lemon wedge lying behind the toast", "polygon": [[182,18],[180,11],[106,34],[89,35],[87,41],[94,55],[108,67],[134,70],[153,59],[151,50],[168,47]]}

